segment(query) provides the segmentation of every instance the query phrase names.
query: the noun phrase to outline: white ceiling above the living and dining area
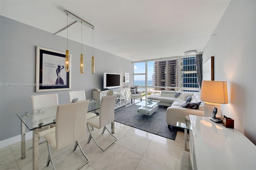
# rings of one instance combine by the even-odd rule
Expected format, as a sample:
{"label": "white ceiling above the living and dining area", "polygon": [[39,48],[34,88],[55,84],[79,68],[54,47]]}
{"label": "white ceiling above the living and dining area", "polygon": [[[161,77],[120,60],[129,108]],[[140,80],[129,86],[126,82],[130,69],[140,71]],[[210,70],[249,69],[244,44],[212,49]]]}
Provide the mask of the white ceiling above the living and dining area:
{"label": "white ceiling above the living and dining area", "polygon": [[[230,0],[1,0],[0,14],[55,34],[67,26],[69,11],[92,24],[94,47],[131,61],[203,51]],[[68,24],[74,19],[68,17]],[[92,46],[92,29],[82,27]],[[67,31],[59,32],[66,38]],[[68,28],[81,43],[81,23]]]}

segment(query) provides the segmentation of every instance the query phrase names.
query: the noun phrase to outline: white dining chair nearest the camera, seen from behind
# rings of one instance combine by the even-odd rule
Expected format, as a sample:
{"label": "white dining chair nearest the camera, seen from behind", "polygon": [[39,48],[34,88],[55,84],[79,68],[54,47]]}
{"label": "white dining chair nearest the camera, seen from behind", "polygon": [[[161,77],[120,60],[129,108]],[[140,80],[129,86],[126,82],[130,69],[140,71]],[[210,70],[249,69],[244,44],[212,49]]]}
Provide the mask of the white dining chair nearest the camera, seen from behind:
{"label": "white dining chair nearest the camera, seen from behind", "polygon": [[[84,125],[86,125],[88,104],[89,100],[58,105],[55,131],[44,136],[47,141],[48,148],[46,166],[49,166],[51,162],[52,169],[55,170],[50,146],[54,150],[60,150],[74,142],[76,146],[80,148],[80,151],[86,159],[86,161],[77,169],[82,168],[82,166],[89,162],[89,159],[85,155],[78,141],[86,135],[86,128],[84,128]],[[76,150],[76,147],[74,150]]]}

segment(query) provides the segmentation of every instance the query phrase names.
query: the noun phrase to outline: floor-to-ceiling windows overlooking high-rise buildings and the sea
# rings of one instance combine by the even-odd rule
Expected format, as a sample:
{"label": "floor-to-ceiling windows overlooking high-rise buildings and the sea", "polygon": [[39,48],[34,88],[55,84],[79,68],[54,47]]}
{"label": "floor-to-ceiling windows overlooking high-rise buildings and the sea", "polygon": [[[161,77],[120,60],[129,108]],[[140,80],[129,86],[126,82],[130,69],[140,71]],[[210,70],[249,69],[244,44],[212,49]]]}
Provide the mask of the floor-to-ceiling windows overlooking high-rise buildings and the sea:
{"label": "floor-to-ceiling windows overlooking high-rise buildings and the sea", "polygon": [[145,97],[162,90],[199,91],[195,56],[133,62],[133,84]]}

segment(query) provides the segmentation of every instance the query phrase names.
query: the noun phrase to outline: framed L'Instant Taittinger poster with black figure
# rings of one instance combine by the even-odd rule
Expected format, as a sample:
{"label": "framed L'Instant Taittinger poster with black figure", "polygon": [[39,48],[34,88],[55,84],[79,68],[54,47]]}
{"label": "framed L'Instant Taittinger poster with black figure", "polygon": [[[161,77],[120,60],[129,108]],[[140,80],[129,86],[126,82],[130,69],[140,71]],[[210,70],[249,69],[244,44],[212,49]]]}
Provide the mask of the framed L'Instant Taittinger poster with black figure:
{"label": "framed L'Instant Taittinger poster with black figure", "polygon": [[65,56],[64,52],[36,47],[36,92],[71,89],[71,55],[68,73]]}

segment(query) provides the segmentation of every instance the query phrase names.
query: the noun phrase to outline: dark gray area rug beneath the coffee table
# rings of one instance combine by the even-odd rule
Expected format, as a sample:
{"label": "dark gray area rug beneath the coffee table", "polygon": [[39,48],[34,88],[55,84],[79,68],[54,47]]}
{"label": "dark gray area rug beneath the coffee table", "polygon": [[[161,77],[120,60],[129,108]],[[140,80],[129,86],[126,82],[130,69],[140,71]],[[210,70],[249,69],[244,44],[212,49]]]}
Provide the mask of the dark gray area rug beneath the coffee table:
{"label": "dark gray area rug beneath the coffee table", "polygon": [[172,126],[168,128],[166,123],[167,107],[159,106],[151,116],[138,113],[137,110],[139,107],[140,106],[131,105],[115,111],[115,121],[175,140],[177,130]]}

